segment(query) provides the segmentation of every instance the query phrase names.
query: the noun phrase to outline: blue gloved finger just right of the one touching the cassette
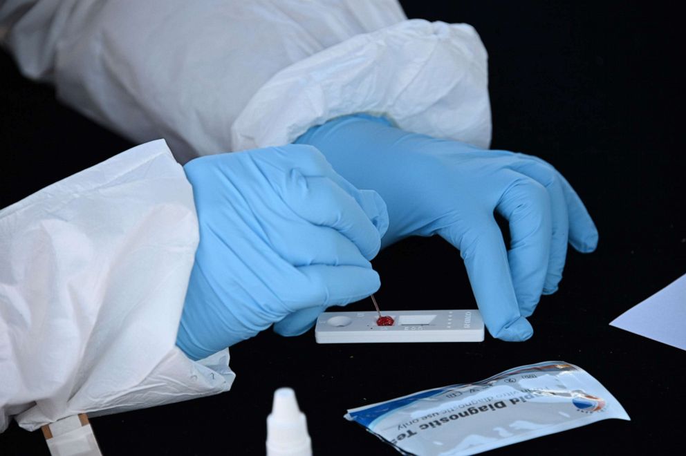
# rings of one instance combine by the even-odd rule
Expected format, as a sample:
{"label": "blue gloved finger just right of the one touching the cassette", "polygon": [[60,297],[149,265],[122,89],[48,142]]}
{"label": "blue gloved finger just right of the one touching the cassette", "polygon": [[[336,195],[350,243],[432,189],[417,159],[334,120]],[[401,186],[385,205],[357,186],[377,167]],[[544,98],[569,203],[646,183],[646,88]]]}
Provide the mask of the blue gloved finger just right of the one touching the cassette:
{"label": "blue gloved finger just right of the one touching the cassette", "polygon": [[515,171],[506,171],[510,185],[503,192],[497,211],[510,223],[508,258],[519,312],[533,313],[541,298],[552,236],[550,197],[541,184]]}

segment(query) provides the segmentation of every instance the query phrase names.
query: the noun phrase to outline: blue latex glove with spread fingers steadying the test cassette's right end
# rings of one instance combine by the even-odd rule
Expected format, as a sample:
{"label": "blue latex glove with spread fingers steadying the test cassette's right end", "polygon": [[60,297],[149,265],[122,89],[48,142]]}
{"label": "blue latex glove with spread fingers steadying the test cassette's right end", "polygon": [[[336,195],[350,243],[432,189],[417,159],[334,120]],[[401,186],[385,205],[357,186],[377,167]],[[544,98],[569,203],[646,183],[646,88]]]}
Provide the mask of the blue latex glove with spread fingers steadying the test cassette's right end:
{"label": "blue latex glove with spread fingers steadying the test cassette's right end", "polygon": [[[316,146],[353,185],[387,204],[389,245],[440,234],[460,249],[492,336],[523,341],[541,293],[557,290],[567,242],[583,252],[597,230],[570,184],[539,158],[488,151],[396,129],[369,115],[313,127],[297,142]],[[494,220],[510,223],[508,251]]]}

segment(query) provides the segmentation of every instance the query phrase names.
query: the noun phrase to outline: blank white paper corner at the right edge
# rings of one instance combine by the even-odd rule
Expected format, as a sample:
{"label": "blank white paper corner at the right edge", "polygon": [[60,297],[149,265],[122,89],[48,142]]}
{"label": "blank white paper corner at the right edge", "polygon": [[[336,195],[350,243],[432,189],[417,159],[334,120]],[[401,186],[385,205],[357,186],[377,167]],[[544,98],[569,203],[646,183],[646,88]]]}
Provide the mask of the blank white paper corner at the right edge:
{"label": "blank white paper corner at the right edge", "polygon": [[610,325],[686,350],[686,274]]}

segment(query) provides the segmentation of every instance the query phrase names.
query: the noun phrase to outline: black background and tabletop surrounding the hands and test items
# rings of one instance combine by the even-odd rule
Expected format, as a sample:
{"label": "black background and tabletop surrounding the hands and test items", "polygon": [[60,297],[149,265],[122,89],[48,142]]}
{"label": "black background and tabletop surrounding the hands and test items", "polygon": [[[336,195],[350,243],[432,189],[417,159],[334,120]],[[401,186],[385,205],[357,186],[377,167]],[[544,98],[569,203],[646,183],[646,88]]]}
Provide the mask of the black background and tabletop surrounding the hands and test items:
{"label": "black background and tabletop surrounding the hands and test items", "polygon": [[[402,3],[409,17],[479,31],[490,54],[492,146],[555,164],[595,219],[597,251],[570,252],[559,292],[530,319],[530,341],[317,345],[311,331],[293,339],[267,331],[232,348],[232,391],[92,419],[105,455],[262,454],[279,386],[295,388],[315,454],[392,455],[343,419],[347,408],[546,360],[588,370],[632,421],[494,453],[682,453],[685,352],[608,325],[686,273],[681,15],[653,2]],[[132,145],[58,104],[5,54],[0,76],[0,207]],[[439,238],[405,240],[373,263],[382,307],[475,307],[458,252]],[[2,455],[47,453],[40,433],[12,425],[0,435]]]}

